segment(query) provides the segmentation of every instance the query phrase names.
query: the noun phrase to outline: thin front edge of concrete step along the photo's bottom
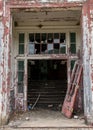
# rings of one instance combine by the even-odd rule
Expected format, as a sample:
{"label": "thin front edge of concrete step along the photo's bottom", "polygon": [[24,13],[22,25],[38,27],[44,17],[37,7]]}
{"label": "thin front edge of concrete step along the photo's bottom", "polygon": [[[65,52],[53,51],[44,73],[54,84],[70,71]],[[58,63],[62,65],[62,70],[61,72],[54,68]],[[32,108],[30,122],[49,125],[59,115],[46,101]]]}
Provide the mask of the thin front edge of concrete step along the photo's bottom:
{"label": "thin front edge of concrete step along the photo's bottom", "polygon": [[93,127],[0,127],[0,130],[93,130]]}

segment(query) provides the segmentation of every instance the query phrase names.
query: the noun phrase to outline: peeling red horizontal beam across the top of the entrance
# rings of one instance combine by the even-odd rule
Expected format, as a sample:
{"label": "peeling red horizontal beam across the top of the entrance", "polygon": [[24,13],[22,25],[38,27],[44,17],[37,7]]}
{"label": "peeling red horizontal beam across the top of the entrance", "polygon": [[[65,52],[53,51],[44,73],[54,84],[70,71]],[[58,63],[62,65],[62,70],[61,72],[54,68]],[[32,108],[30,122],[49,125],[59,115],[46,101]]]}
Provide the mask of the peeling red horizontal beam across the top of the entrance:
{"label": "peeling red horizontal beam across the top of the entrance", "polygon": [[7,0],[11,8],[45,8],[45,7],[77,7],[86,0]]}

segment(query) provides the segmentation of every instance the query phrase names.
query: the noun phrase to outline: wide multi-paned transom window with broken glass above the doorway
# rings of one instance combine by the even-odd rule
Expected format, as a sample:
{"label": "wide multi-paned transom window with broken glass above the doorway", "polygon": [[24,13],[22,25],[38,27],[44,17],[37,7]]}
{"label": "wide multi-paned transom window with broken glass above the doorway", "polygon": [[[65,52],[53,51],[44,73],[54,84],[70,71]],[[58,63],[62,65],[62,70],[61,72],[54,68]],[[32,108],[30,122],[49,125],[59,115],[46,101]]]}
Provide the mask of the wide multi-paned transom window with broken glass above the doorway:
{"label": "wide multi-paned transom window with broken glass above the doorway", "polygon": [[29,33],[29,54],[65,54],[65,33]]}

